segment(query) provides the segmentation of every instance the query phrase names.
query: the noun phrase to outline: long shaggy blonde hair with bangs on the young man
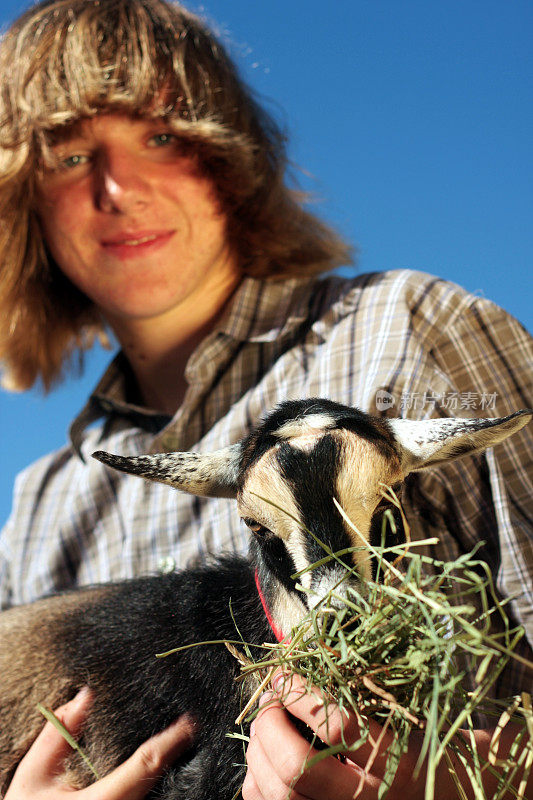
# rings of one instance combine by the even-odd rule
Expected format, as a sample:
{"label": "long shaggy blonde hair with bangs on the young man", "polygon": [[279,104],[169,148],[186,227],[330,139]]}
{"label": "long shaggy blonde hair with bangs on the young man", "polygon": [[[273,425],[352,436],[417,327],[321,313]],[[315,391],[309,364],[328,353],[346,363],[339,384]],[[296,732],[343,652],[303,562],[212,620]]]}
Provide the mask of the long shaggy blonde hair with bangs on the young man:
{"label": "long shaggy blonde hair with bangs on the young man", "polygon": [[0,360],[4,384],[44,388],[104,335],[98,310],[47,252],[34,181],[50,134],[105,111],[164,118],[227,215],[243,274],[280,280],[350,260],[285,182],[285,140],[223,47],[164,0],[45,0],[0,47]]}

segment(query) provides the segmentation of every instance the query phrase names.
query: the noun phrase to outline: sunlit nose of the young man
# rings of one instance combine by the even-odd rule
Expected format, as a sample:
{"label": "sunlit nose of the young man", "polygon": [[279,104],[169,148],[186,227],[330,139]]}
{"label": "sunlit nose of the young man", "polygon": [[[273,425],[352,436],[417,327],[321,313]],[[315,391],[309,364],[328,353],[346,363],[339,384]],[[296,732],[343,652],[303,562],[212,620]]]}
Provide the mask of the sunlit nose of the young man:
{"label": "sunlit nose of the young man", "polygon": [[128,214],[150,201],[150,183],[127,153],[101,153],[95,170],[95,202],[100,211]]}

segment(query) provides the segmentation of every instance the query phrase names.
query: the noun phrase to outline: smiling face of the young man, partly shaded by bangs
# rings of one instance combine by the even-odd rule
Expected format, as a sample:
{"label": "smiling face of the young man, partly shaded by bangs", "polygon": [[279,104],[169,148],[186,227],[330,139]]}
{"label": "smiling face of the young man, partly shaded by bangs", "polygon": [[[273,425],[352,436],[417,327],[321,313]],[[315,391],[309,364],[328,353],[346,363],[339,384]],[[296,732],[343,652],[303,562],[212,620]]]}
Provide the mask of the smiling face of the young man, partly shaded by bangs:
{"label": "smiling face of the young man, partly shaded by bangs", "polygon": [[84,119],[53,151],[37,191],[46,244],[112,327],[225,302],[237,281],[225,216],[164,122]]}

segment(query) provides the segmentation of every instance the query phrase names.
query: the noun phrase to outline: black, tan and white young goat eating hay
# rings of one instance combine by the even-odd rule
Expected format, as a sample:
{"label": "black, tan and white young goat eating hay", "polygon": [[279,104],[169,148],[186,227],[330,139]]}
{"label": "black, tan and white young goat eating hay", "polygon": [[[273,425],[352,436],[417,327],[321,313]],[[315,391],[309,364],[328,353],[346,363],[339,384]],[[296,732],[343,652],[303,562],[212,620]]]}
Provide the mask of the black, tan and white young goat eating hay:
{"label": "black, tan and white young goat eating hay", "polygon": [[[250,557],[69,591],[1,614],[0,796],[42,725],[36,704],[57,707],[88,684],[95,700],[82,747],[100,775],[189,711],[199,722],[195,745],[149,796],[232,798],[244,769],[235,766],[244,760],[242,743],[226,736],[242,702],[236,660],[207,644],[165,659],[155,654],[235,639],[236,628],[252,646],[272,640],[261,593],[280,635],[290,633],[340,578],[331,561],[300,578],[305,593],[295,587],[291,575],[323,556],[306,528],[332,551],[360,544],[334,497],[370,541],[381,484],[399,485],[413,470],[497,444],[532,416],[387,420],[309,399],[282,403],[242,441],[211,454],[95,453],[106,465],[185,492],[237,498],[251,531]],[[353,558],[348,580],[357,586],[371,567],[360,547]],[[92,775],[73,758],[67,778],[82,787]]]}

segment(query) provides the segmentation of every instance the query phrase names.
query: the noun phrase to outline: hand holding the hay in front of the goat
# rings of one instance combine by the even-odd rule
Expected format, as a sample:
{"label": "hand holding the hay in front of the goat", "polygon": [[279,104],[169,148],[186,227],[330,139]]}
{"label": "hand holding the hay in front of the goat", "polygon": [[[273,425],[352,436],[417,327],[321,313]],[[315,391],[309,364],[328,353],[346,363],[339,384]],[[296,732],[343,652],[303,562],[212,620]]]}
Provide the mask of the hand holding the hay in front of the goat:
{"label": "hand holding the hay in front of the goat", "polygon": [[[368,741],[352,751],[360,737],[353,714],[342,714],[335,703],[324,705],[318,690],[305,691],[298,676],[274,683],[275,694],[266,693],[259,714],[254,720],[250,744],[246,753],[248,771],[242,789],[243,800],[376,800],[385,774],[386,754],[392,734],[379,723],[370,720]],[[308,741],[296,730],[286,709],[304,721],[329,745],[343,742],[344,761],[328,756],[311,768],[306,763],[318,755]],[[480,751],[488,751],[490,732],[476,731]],[[387,800],[422,800],[425,792],[424,769],[413,778],[423,737],[413,731],[409,748],[400,759],[398,769],[387,794]],[[459,774],[462,772],[458,764]],[[453,780],[444,762],[437,771],[436,798],[455,796]],[[468,781],[465,781],[468,785]]]}

